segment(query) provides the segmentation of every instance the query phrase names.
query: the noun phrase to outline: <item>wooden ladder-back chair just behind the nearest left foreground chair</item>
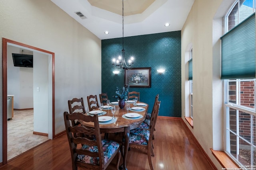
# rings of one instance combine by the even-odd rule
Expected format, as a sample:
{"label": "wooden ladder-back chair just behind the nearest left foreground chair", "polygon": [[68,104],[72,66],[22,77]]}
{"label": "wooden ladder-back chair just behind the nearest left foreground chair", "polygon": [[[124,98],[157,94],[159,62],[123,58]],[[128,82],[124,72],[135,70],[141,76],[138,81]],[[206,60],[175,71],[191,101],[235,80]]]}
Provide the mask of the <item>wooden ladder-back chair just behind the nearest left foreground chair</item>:
{"label": "wooden ladder-back chair just behind the nearest left foreground chair", "polygon": [[[85,107],[84,107],[84,99],[83,98],[73,98],[72,100],[68,100],[68,109],[69,113],[72,114],[74,112],[83,112],[85,113]],[[73,124],[74,123],[74,124]],[[72,125],[78,125],[80,124],[77,120],[72,121]]]}

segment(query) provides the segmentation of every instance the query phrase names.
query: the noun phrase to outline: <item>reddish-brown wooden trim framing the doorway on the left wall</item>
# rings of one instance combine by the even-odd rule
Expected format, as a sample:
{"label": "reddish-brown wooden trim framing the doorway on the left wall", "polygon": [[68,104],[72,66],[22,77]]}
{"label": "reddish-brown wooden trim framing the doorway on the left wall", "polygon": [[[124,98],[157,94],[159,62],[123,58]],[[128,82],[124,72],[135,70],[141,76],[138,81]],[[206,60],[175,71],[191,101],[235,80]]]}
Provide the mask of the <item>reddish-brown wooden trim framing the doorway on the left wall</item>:
{"label": "reddish-brown wooden trim framing the doorway on the left wall", "polygon": [[6,39],[6,38],[2,38],[2,76],[3,76],[3,80],[2,80],[2,121],[3,121],[3,145],[2,145],[2,150],[3,150],[3,165],[7,164],[7,45],[8,43],[14,44],[14,45],[19,45],[22,47],[27,47],[30,49],[34,49],[36,51],[41,51],[43,53],[48,53],[50,55],[52,55],[52,139],[55,138],[55,101],[54,101],[54,53],[50,52],[50,51],[46,51],[44,49],[39,49],[37,47],[33,47],[30,45],[26,45],[23,43],[19,43],[16,41],[12,41],[10,39]]}

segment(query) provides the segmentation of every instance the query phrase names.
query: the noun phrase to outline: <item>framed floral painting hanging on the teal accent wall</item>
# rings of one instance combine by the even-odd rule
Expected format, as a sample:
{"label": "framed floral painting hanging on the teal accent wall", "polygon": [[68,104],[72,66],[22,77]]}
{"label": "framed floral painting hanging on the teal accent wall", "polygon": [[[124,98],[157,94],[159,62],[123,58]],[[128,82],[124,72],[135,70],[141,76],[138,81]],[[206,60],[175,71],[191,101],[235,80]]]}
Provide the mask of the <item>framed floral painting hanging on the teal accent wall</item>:
{"label": "framed floral painting hanging on the teal accent wall", "polygon": [[130,87],[151,87],[151,67],[124,70],[124,84]]}

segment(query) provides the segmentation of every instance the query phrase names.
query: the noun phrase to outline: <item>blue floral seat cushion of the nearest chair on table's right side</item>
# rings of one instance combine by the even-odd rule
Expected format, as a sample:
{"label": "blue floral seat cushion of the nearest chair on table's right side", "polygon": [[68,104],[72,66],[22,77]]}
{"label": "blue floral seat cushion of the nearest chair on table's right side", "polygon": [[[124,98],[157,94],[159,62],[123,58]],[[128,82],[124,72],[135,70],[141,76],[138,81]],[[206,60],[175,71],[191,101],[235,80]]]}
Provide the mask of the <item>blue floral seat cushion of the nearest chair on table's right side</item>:
{"label": "blue floral seat cushion of the nearest chair on table's right side", "polygon": [[146,129],[136,128],[130,131],[129,143],[148,145],[150,132]]}

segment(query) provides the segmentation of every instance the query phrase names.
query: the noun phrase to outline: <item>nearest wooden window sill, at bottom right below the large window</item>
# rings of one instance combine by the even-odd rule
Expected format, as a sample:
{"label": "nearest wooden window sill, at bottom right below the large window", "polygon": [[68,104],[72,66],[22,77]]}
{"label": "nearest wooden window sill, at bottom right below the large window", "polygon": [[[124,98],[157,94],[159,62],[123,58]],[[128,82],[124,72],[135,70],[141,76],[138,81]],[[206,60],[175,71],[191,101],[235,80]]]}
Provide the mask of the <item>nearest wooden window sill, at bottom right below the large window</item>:
{"label": "nearest wooden window sill, at bottom right below the large window", "polygon": [[218,160],[218,162],[220,162],[223,168],[240,168],[224,151],[213,149],[210,150],[212,151],[212,154]]}

